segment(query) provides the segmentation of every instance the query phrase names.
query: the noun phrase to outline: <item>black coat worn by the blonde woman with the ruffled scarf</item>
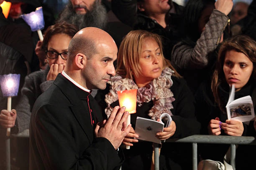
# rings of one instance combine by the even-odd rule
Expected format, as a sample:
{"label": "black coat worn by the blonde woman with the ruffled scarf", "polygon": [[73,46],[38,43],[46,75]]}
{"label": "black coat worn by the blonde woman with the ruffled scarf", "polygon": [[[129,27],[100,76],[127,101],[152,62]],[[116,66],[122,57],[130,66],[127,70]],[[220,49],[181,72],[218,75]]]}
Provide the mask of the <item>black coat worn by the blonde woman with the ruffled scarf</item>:
{"label": "black coat worn by the blonde woman with the ruffled scarf", "polygon": [[[184,79],[172,77],[173,85],[170,88],[174,94],[175,101],[172,102],[172,119],[176,123],[176,131],[171,138],[184,138],[189,135],[199,134],[200,124],[195,119],[194,97],[187,87]],[[98,92],[95,99],[104,105],[105,92]],[[118,101],[111,106],[119,105]],[[153,102],[143,103],[141,107],[137,105],[136,113],[131,114],[131,124],[135,128],[136,118],[149,118],[148,110],[153,106]],[[148,170],[151,166],[152,143],[139,141],[133,143],[130,150],[124,150],[125,162],[122,165],[123,170]],[[162,145],[160,155],[161,170],[189,170],[192,167],[192,146],[184,143],[166,143]]]}

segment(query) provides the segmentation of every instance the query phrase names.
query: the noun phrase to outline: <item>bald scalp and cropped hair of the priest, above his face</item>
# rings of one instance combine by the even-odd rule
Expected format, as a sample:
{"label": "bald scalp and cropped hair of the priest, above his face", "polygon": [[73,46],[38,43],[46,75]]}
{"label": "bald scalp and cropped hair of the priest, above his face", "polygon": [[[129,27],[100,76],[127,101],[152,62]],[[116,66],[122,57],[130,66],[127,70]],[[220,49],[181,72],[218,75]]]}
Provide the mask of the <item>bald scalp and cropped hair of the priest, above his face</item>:
{"label": "bald scalp and cropped hair of the priest, above his face", "polygon": [[[113,38],[104,30],[87,27],[79,30],[69,43],[67,64],[72,63],[78,53],[84,54],[87,59],[98,53],[99,45],[115,45]],[[116,46],[116,45],[115,45]]]}

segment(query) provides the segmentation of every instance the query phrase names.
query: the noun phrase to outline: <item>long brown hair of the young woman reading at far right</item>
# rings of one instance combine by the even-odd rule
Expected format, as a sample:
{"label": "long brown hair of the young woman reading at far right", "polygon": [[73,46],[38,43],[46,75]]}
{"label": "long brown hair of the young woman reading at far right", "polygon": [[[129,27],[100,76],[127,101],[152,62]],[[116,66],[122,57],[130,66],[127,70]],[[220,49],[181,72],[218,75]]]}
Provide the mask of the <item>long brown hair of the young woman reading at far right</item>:
{"label": "long brown hair of the young woman reading at far right", "polygon": [[248,37],[246,35],[237,35],[223,42],[218,52],[218,61],[212,75],[211,85],[214,100],[218,104],[219,108],[223,111],[225,110],[225,106],[223,103],[220,102],[218,87],[220,83],[226,81],[223,72],[223,65],[225,55],[230,50],[235,50],[237,52],[243,53],[251,60],[251,62],[253,62],[253,72],[251,73],[249,81],[252,79],[254,79],[253,81],[256,80],[256,42],[251,39],[251,37]]}

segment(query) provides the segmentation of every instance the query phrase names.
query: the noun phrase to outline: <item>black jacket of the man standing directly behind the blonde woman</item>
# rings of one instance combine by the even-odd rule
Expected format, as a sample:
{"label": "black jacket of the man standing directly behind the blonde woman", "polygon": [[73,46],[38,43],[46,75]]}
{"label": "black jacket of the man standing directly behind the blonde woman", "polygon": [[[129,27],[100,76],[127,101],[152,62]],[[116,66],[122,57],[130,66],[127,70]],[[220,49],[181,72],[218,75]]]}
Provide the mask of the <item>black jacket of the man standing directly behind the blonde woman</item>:
{"label": "black jacket of the man standing directly behind the blonde woman", "polygon": [[117,18],[134,30],[147,30],[161,36],[164,57],[171,60],[172,47],[180,40],[179,25],[183,8],[172,2],[174,13],[166,13],[166,28],[163,28],[156,20],[144,15],[137,9],[137,0],[112,0],[112,10]]}

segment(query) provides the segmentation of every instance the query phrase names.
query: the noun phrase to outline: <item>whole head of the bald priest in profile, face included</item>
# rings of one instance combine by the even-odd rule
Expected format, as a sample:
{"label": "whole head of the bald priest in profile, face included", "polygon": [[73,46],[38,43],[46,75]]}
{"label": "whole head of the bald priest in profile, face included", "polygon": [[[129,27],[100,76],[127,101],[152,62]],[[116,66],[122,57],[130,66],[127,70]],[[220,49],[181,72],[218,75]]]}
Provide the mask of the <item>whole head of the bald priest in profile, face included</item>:
{"label": "whole head of the bald priest in profile, face included", "polygon": [[115,41],[107,32],[94,27],[83,28],[69,43],[64,71],[87,89],[103,90],[115,75],[117,52]]}

